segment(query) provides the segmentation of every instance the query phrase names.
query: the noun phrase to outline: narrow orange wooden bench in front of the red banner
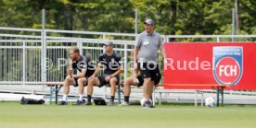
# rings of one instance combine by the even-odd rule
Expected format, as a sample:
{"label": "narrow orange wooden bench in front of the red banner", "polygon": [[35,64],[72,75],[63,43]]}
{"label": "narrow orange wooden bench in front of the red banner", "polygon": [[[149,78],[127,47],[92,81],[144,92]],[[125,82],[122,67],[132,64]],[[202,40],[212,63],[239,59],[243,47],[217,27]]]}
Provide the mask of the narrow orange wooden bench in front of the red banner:
{"label": "narrow orange wooden bench in front of the red banner", "polygon": [[217,84],[160,84],[155,87],[211,87],[216,90],[217,94],[217,107],[220,105],[220,94],[222,96],[222,106],[224,106],[224,88],[228,85]]}

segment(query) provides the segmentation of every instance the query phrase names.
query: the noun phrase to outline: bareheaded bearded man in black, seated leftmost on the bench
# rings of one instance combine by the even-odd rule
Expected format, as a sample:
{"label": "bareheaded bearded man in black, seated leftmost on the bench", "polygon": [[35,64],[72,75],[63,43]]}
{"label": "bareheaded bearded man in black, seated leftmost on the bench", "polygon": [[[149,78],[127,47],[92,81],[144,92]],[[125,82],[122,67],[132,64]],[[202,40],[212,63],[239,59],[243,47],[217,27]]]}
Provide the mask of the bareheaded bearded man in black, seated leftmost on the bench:
{"label": "bareheaded bearded man in black, seated leftmost on the bench", "polygon": [[[72,69],[77,69],[80,71],[77,75],[72,75]],[[63,85],[63,99],[60,101],[59,105],[67,105],[68,95],[70,93],[70,85],[79,88],[79,99],[74,105],[82,105],[83,100],[83,90],[84,86],[87,85],[87,78],[92,76],[95,72],[94,66],[91,64],[90,58],[87,56],[80,55],[79,49],[77,47],[72,47],[70,49],[70,59],[67,69],[67,76],[64,80]]]}

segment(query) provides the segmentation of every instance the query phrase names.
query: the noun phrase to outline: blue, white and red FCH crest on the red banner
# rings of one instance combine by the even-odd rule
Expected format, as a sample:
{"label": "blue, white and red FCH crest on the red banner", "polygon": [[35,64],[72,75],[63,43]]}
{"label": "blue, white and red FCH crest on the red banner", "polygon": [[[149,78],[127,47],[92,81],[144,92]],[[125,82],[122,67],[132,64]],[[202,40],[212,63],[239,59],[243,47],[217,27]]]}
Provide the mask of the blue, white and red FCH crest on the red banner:
{"label": "blue, white and red FCH crest on the red banner", "polygon": [[243,74],[243,47],[213,47],[213,76],[220,85],[235,86]]}

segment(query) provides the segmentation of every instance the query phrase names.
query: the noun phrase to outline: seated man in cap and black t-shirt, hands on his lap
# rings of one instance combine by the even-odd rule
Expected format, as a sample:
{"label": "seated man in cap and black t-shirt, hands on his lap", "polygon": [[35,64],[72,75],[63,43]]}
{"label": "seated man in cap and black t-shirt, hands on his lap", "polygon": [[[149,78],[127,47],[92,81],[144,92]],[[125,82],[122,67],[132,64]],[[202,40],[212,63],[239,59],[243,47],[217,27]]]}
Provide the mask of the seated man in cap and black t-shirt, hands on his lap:
{"label": "seated man in cap and black t-shirt, hands on his lap", "polygon": [[[113,51],[114,43],[107,41],[104,43],[105,52],[98,57],[96,71],[93,76],[89,77],[87,86],[87,101],[84,105],[92,105],[91,98],[93,94],[93,86],[110,87],[110,101],[109,106],[114,105],[116,85],[119,83],[119,75],[122,73],[121,59],[122,57]],[[103,76],[97,76],[100,72],[100,68],[103,66]]]}

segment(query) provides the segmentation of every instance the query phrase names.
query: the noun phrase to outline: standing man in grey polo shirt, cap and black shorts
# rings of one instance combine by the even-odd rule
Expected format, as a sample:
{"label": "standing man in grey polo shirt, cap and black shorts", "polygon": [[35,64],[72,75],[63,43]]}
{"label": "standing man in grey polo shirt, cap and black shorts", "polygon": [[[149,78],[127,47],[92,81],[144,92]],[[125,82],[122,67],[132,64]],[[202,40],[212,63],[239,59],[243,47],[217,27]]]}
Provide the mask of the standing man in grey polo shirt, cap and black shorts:
{"label": "standing man in grey polo shirt, cap and black shorts", "polygon": [[153,108],[149,99],[152,96],[154,80],[159,70],[157,69],[159,50],[164,60],[166,60],[160,33],[154,31],[154,27],[154,21],[147,18],[144,22],[145,31],[139,34],[134,45],[134,69],[139,69],[144,79],[143,96],[145,108]]}

